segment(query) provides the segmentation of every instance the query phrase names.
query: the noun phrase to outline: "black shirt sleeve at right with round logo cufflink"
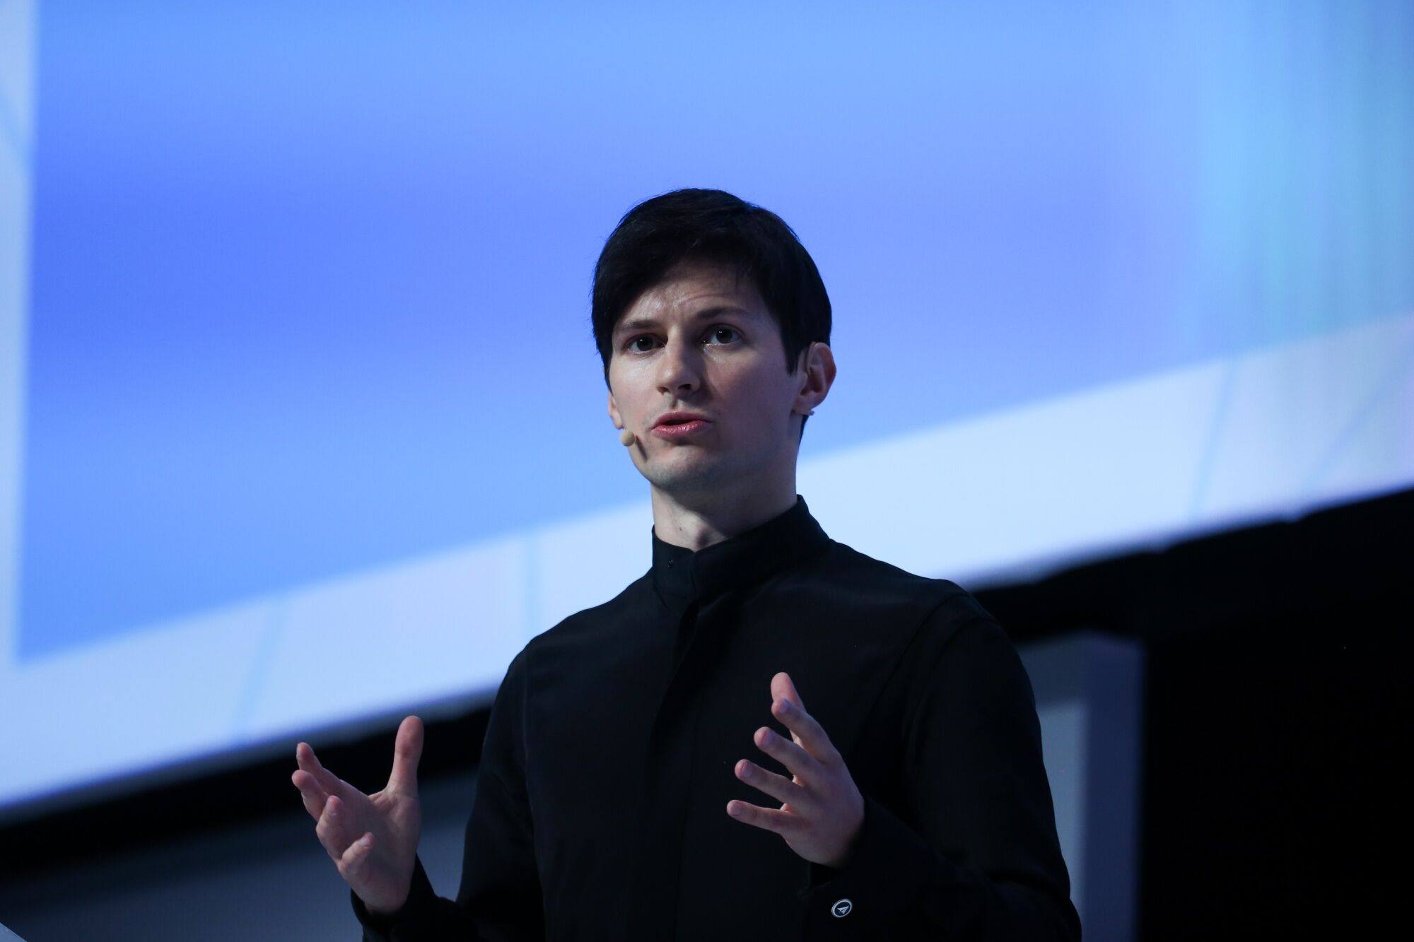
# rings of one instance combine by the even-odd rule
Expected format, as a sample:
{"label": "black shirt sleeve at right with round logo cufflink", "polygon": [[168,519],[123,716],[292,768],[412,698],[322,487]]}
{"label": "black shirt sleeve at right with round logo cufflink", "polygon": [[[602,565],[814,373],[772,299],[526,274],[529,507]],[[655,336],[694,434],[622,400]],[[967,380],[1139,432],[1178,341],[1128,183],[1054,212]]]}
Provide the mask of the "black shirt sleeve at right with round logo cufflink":
{"label": "black shirt sleeve at right with round logo cufflink", "polygon": [[942,642],[904,744],[913,822],[864,796],[844,867],[809,867],[806,938],[1079,939],[1035,694],[990,617]]}

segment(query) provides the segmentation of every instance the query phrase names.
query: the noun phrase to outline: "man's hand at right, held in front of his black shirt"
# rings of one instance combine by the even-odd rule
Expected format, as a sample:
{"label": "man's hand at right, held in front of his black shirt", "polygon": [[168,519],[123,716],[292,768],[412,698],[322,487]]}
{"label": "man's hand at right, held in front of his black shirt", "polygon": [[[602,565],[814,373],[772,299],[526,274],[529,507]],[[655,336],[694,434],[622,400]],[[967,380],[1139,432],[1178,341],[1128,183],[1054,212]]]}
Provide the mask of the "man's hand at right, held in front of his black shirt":
{"label": "man's hand at right, held in front of his black shirt", "polygon": [[769,727],[756,730],[756,747],[785,765],[792,778],[768,772],[749,760],[737,762],[737,778],[782,802],[779,809],[732,799],[727,813],[740,822],[781,835],[810,863],[841,868],[864,825],[864,796],[830,737],[805,711],[790,675],[771,678],[771,713],[790,730],[785,738]]}

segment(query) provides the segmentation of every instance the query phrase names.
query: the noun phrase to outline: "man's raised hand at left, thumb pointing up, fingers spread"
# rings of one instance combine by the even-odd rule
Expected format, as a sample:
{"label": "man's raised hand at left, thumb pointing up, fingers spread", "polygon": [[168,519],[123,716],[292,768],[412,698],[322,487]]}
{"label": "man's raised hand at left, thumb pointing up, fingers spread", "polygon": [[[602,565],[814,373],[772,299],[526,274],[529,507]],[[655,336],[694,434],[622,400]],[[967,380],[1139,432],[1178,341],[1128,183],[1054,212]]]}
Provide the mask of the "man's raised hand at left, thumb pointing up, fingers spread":
{"label": "man's raised hand at left, thumb pointing up, fingers spread", "polygon": [[413,884],[423,830],[417,803],[421,755],[423,721],[410,716],[397,727],[387,786],[365,795],[320,765],[308,743],[294,747],[300,768],[290,781],[300,789],[305,810],[318,822],[314,833],[329,851],[339,876],[373,914],[397,912],[407,902]]}

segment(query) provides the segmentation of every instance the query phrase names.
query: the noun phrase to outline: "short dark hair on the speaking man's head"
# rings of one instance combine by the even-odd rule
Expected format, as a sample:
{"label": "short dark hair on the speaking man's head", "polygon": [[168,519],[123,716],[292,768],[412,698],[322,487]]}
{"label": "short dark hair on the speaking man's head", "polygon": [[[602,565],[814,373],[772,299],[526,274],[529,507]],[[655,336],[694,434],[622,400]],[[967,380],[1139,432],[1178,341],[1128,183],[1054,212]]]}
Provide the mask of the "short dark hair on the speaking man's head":
{"label": "short dark hair on the speaking man's head", "polygon": [[[594,266],[590,320],[605,385],[614,325],[689,257],[730,264],[752,280],[781,327],[788,373],[812,342],[830,342],[830,296],[810,253],[781,216],[721,190],[673,190],[624,214]],[[805,421],[802,416],[802,434]]]}

